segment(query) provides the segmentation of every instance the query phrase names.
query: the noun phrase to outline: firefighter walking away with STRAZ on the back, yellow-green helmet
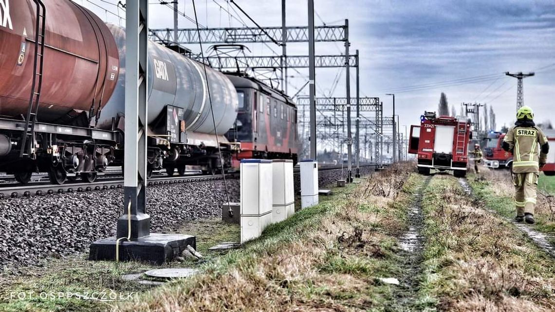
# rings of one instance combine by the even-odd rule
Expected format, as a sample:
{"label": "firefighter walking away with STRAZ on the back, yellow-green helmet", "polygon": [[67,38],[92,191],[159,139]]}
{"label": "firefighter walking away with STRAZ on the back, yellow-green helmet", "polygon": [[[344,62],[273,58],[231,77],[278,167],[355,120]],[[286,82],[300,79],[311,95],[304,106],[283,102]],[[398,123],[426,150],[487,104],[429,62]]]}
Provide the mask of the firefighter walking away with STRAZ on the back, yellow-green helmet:
{"label": "firefighter walking away with STRAZ on the back, yellow-green helmet", "polygon": [[522,106],[517,111],[517,121],[503,140],[503,149],[513,153],[516,221],[529,224],[534,223],[539,170],[546,164],[549,152],[547,137],[533,119],[532,109]]}

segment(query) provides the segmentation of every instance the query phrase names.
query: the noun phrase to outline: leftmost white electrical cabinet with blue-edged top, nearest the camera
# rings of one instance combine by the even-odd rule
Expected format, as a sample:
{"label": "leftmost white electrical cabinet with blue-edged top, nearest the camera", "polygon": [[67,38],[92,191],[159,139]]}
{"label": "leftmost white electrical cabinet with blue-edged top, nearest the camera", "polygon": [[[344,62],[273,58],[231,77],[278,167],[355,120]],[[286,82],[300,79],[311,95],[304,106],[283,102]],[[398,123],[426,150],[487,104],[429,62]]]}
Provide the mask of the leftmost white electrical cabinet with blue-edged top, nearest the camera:
{"label": "leftmost white electrical cabinet with blue-edged top, nearest the camera", "polygon": [[257,238],[272,222],[271,160],[241,160],[241,243]]}

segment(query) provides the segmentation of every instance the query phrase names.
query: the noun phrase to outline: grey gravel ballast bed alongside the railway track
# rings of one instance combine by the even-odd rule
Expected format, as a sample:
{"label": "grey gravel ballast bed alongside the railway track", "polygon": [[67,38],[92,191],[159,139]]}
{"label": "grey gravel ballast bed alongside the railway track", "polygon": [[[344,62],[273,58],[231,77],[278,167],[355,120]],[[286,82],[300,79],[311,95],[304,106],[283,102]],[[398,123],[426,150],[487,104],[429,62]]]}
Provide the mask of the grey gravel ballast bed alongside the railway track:
{"label": "grey gravel ballast bed alongside the railway track", "polygon": [[[361,174],[371,170],[361,167]],[[335,185],[340,177],[341,170],[321,171],[319,185]],[[298,191],[300,175],[294,180]],[[228,179],[231,202],[239,202],[239,187],[239,180]],[[147,200],[150,230],[164,233],[186,221],[221,217],[226,196],[224,182],[218,180],[149,186]],[[90,243],[115,235],[123,210],[123,189],[0,200],[0,267],[84,252]]]}

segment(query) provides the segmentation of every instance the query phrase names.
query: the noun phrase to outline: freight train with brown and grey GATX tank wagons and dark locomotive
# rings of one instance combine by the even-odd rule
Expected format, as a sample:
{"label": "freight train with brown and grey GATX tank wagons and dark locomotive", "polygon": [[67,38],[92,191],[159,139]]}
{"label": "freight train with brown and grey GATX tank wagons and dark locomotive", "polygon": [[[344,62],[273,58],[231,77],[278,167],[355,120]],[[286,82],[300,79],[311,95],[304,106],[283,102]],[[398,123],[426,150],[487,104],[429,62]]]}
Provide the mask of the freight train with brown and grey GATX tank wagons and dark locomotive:
{"label": "freight train with brown and grey GATX tank wagons and dark locomotive", "polygon": [[[0,6],[0,171],[93,182],[123,165],[125,31],[69,0]],[[9,5],[11,4],[11,6]],[[296,160],[296,107],[260,81],[148,43],[149,175]],[[214,116],[214,120],[213,120]],[[222,157],[219,157],[221,150]]]}

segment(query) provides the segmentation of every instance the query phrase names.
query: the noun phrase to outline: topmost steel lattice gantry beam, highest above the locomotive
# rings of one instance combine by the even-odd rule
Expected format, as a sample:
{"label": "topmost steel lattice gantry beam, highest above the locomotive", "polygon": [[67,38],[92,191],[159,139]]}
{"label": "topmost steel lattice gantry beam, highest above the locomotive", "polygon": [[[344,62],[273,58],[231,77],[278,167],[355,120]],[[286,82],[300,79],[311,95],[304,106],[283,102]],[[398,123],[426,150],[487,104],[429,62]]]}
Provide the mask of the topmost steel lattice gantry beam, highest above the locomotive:
{"label": "topmost steel lattice gantry beam, highest above the locomotive", "polygon": [[[316,42],[341,42],[347,40],[346,25],[326,25],[314,27]],[[286,42],[307,42],[308,27],[286,27]],[[200,32],[200,34],[199,34]],[[196,28],[177,30],[177,42],[174,29],[150,29],[150,39],[154,41],[174,42],[176,44],[198,43],[270,43],[281,41],[282,27],[242,27],[242,28],[205,28],[197,32]],[[200,39],[199,39],[200,36]]]}

